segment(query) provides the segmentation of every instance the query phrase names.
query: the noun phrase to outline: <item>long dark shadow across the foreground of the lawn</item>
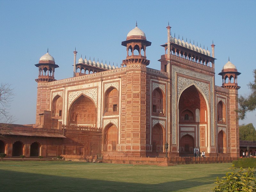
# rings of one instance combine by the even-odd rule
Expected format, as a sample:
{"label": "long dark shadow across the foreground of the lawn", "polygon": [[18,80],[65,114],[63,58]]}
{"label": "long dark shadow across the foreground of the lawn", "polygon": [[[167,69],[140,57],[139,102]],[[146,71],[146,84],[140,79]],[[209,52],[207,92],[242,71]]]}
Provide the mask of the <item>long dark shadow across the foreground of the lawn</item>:
{"label": "long dark shadow across the foreground of the lawn", "polygon": [[[93,173],[92,173],[93,174]],[[52,176],[1,170],[1,191],[192,191],[190,188],[213,184],[211,175],[196,179],[170,181],[159,184],[141,184],[86,178]],[[125,177],[125,173],[124,173]],[[197,191],[195,189],[195,191]],[[199,191],[199,190],[198,190]]]}

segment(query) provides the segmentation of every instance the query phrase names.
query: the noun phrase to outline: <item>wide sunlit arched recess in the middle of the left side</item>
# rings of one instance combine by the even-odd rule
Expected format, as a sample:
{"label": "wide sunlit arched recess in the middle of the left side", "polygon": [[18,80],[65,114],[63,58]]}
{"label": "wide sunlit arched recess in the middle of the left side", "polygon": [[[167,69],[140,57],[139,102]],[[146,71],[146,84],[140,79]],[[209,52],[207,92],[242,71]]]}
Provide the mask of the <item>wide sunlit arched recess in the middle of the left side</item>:
{"label": "wide sunlit arched recess in the middle of the left side", "polygon": [[95,127],[97,122],[97,109],[91,99],[81,95],[69,110],[69,124]]}

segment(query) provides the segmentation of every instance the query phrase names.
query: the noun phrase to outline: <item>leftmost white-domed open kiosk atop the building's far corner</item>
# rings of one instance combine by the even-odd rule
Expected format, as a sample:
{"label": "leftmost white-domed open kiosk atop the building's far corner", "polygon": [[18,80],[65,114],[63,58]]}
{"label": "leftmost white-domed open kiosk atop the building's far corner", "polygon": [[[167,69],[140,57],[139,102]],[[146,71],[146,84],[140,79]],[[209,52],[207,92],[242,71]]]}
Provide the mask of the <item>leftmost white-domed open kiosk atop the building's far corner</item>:
{"label": "leftmost white-domed open kiosk atop the building's far corner", "polygon": [[39,59],[39,63],[35,64],[35,66],[38,67],[39,70],[38,78],[35,79],[36,82],[50,82],[56,80],[54,79],[54,71],[55,68],[59,66],[55,64],[54,58],[49,54],[48,49],[47,53]]}

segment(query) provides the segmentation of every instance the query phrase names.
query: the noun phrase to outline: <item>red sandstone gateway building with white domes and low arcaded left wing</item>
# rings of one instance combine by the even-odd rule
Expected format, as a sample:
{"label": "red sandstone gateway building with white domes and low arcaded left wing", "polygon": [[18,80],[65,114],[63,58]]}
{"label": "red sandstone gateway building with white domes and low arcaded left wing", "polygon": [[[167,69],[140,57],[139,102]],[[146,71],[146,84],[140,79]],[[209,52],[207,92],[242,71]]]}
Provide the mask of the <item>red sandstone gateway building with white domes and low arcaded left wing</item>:
{"label": "red sandstone gateway building with white domes and low arcaded left wing", "polygon": [[[240,73],[228,61],[219,74],[222,87],[216,86],[215,45],[211,56],[208,50],[172,37],[170,30],[168,25],[160,71],[147,67],[146,47],[151,42],[137,25],[122,42],[127,57],[120,68],[86,58],[76,63],[75,50],[74,77],[55,80],[59,66],[47,52],[36,64],[36,124],[27,128],[31,135],[17,129],[19,137],[26,138],[22,140],[12,132],[5,133],[12,139],[1,139],[1,152],[31,156],[36,142],[32,146],[35,156],[79,160],[98,154],[105,162],[151,157],[167,162],[167,150],[171,162],[193,157],[195,148],[205,151],[212,161],[220,156],[237,158]],[[32,139],[32,133],[38,131],[51,136],[34,135]],[[16,140],[20,143],[14,153]],[[56,146],[51,153],[44,150],[50,147],[47,142]]]}

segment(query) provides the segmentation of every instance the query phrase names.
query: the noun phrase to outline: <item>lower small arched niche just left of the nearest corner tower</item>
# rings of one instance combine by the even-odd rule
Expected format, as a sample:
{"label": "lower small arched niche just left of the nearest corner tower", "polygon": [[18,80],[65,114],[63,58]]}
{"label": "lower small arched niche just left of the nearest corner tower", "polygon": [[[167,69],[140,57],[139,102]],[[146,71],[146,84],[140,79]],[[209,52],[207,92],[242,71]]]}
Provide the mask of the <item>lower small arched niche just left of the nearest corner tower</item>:
{"label": "lower small arched niche just left of the nearest corner tower", "polygon": [[104,129],[104,151],[116,151],[118,130],[116,125],[109,124]]}

